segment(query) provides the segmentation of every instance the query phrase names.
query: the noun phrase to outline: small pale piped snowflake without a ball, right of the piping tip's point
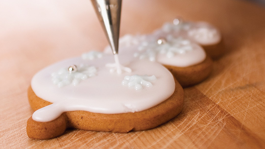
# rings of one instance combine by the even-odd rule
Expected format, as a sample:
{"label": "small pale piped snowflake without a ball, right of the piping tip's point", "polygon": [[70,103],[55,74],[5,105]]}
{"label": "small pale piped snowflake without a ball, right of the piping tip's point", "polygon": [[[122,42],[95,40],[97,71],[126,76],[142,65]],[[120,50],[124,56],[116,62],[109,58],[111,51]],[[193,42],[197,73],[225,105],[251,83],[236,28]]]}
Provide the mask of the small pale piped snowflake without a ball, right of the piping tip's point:
{"label": "small pale piped snowflake without a ball, right of the piping tip's point", "polygon": [[152,87],[151,81],[157,80],[157,78],[153,76],[125,76],[124,80],[121,82],[122,85],[127,85],[128,87],[134,86],[135,90],[142,90],[143,86]]}

